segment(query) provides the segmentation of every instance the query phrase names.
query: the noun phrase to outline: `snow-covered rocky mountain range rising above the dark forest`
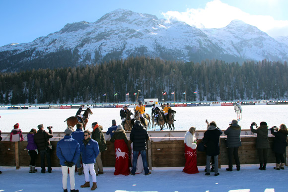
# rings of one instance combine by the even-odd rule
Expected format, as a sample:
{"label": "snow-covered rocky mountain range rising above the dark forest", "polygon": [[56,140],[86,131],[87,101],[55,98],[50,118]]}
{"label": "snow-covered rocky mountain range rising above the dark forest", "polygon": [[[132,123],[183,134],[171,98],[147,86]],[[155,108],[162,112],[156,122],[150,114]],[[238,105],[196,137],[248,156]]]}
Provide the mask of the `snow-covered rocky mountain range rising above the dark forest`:
{"label": "snow-covered rocky mountain range rising above the dark forest", "polygon": [[0,47],[0,70],[96,64],[136,56],[193,62],[283,62],[288,60],[287,53],[288,44],[242,21],[232,21],[220,29],[198,29],[184,22],[117,9],[93,23],[67,24],[33,42]]}

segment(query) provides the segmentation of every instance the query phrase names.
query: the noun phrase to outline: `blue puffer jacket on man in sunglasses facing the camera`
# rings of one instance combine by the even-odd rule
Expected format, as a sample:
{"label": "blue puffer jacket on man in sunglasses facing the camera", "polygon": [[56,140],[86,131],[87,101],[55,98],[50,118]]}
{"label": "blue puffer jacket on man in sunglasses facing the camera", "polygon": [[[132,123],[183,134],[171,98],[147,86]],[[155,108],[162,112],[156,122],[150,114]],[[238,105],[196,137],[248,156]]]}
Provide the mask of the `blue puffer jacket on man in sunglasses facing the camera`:
{"label": "blue puffer jacket on man in sunglasses facing the camera", "polygon": [[80,151],[82,152],[82,162],[85,164],[95,163],[96,157],[99,154],[99,146],[97,141],[89,138],[89,142],[85,145],[83,142],[80,146]]}

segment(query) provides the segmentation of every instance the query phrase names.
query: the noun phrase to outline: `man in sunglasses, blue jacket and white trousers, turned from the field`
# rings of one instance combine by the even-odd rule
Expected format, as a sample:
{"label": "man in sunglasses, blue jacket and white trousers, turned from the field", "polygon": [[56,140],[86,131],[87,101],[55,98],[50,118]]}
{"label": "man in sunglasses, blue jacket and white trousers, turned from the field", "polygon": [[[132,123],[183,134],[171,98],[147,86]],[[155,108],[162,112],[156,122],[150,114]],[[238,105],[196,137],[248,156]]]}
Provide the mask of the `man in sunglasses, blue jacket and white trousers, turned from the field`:
{"label": "man in sunglasses, blue jacket and white trousers, turned from the field", "polygon": [[84,131],[84,140],[81,143],[80,151],[82,152],[82,161],[85,175],[85,184],[81,185],[81,188],[90,187],[89,171],[92,176],[93,186],[91,190],[97,188],[96,173],[94,170],[94,163],[96,162],[96,157],[99,155],[99,146],[97,141],[91,139],[91,132],[89,130]]}

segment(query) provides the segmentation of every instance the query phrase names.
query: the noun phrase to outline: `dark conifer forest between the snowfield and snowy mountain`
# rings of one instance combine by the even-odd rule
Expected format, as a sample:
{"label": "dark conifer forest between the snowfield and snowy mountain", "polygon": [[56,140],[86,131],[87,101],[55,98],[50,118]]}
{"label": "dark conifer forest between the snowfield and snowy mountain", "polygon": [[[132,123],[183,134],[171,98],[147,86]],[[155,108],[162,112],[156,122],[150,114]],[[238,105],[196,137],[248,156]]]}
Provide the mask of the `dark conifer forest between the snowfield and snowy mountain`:
{"label": "dark conifer forest between the snowfield and snowy mountain", "polygon": [[[148,57],[55,69],[0,73],[0,103],[116,103],[287,99],[288,65],[263,60],[175,62]],[[197,91],[197,95],[193,94]],[[166,92],[166,95],[163,93]],[[175,94],[171,94],[174,92]],[[186,93],[183,95],[183,93]],[[103,96],[106,93],[106,96]]]}

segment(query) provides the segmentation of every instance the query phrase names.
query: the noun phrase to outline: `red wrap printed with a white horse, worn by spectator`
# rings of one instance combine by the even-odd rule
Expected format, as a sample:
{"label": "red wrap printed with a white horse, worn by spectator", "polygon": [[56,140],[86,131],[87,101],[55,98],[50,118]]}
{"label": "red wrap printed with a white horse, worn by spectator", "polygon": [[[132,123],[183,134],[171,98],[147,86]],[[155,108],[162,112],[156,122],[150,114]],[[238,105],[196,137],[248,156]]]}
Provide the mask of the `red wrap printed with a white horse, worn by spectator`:
{"label": "red wrap printed with a white horse, worn by spectator", "polygon": [[129,175],[129,150],[124,139],[116,139],[114,142],[114,148],[116,157],[114,175]]}

